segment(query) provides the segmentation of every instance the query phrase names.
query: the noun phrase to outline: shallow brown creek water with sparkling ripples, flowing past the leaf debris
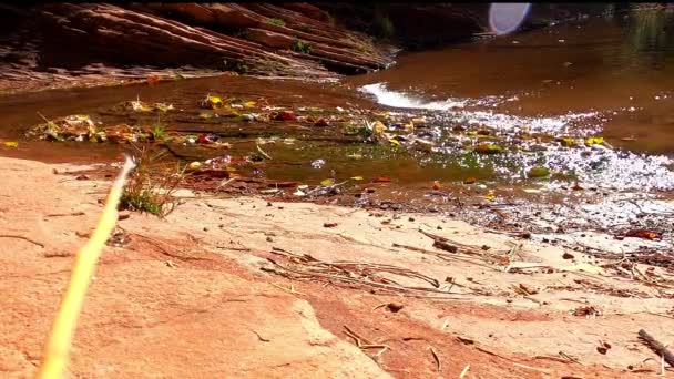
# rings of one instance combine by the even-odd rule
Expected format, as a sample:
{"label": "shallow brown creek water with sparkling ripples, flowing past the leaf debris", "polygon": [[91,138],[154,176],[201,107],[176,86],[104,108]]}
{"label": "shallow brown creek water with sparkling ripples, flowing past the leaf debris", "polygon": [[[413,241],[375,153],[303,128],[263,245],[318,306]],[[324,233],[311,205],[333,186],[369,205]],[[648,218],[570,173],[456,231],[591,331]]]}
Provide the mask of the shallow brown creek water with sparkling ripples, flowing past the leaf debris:
{"label": "shallow brown creek water with sparkling ripples, flowing past the leaf debris", "polygon": [[[583,221],[578,227],[626,223],[671,233],[666,217],[674,206],[661,199],[671,198],[674,190],[673,29],[671,11],[635,11],[408,53],[388,70],[340,83],[221,76],[4,96],[0,98],[0,137],[20,137],[28,126],[41,122],[37,112],[50,119],[84,113],[105,125],[156,122],[155,115],[110,111],[140,96],[174,104],[177,112],[161,120],[170,132],[216,133],[232,143],[225,152],[187,146],[182,157],[186,161],[246,155],[255,151],[259,137],[267,142],[278,137],[263,145],[273,160],[256,167],[255,175],[310,185],[330,176],[337,182],[388,176],[394,182],[389,198],[407,203],[428,199],[438,181],[446,204],[452,196],[484,202],[490,193],[496,193],[497,203],[528,201],[527,206],[518,203],[522,215],[514,217],[514,224],[532,215],[541,218],[544,211],[550,214],[552,226],[545,226],[550,229],[569,226],[575,218]],[[321,107],[336,116],[335,127],[205,120],[197,104],[207,93],[265,98],[296,111]],[[341,115],[347,120],[337,121]],[[398,121],[412,117],[425,121],[413,132],[402,133]],[[345,139],[341,126],[374,119],[384,120],[404,145],[422,139],[432,148],[391,148]],[[605,143],[586,146],[588,137],[602,137]],[[293,142],[282,143],[287,139]],[[564,139],[575,139],[578,145],[563,146]],[[476,154],[474,146],[484,142],[498,145],[503,154]],[[109,160],[125,148],[23,141],[20,148],[0,153],[86,162]],[[313,164],[317,160],[324,164]],[[531,170],[540,167],[550,175],[532,177]],[[477,184],[463,184],[469,177]],[[592,191],[572,191],[579,183]],[[560,212],[564,221],[559,219]],[[467,215],[479,222],[493,218],[476,212]]]}

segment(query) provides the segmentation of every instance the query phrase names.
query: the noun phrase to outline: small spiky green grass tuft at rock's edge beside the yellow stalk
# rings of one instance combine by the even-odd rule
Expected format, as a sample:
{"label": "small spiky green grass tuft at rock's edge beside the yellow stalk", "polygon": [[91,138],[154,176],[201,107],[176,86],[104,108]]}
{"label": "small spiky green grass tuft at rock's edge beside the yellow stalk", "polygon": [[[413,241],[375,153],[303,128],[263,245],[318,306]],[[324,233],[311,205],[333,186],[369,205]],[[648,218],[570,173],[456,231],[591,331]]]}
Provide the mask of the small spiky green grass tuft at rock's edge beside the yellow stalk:
{"label": "small spiky green grass tuft at rock's edge beside the yellow stalk", "polygon": [[173,196],[185,178],[185,167],[175,168],[160,163],[165,151],[151,153],[149,147],[132,145],[135,170],[129,176],[120,199],[120,209],[146,212],[160,217],[168,215],[177,201]]}

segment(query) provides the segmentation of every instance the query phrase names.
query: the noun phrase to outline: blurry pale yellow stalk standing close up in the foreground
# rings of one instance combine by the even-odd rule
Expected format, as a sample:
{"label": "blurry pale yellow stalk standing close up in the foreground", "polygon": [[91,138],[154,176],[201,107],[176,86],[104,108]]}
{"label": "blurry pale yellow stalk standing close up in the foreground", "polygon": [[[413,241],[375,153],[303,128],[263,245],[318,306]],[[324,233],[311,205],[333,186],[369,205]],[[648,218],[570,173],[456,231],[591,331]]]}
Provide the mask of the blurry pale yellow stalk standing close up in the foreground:
{"label": "blurry pale yellow stalk standing close up in the foreground", "polygon": [[47,341],[38,378],[60,379],[63,376],[63,371],[69,362],[72,337],[89,283],[91,281],[99,256],[105,246],[105,242],[116,224],[118,204],[122,196],[124,181],[134,166],[135,164],[127,156],[122,171],[114,181],[112,188],[110,188],[110,194],[108,195],[108,201],[105,202],[105,207],[103,208],[103,214],[96,229],[86,245],[78,252],[70,284]]}

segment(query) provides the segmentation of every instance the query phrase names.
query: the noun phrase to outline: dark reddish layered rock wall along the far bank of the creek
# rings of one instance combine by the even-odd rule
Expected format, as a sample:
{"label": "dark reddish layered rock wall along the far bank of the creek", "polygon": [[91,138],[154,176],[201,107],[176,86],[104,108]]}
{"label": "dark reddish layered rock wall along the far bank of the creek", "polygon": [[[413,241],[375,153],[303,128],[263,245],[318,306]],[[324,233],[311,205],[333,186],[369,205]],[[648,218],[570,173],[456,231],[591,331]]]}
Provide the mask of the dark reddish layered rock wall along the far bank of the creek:
{"label": "dark reddish layered rock wall along the far bank of the creek", "polygon": [[[534,4],[535,28],[603,4]],[[489,3],[0,4],[2,75],[92,63],[328,78],[488,31]]]}

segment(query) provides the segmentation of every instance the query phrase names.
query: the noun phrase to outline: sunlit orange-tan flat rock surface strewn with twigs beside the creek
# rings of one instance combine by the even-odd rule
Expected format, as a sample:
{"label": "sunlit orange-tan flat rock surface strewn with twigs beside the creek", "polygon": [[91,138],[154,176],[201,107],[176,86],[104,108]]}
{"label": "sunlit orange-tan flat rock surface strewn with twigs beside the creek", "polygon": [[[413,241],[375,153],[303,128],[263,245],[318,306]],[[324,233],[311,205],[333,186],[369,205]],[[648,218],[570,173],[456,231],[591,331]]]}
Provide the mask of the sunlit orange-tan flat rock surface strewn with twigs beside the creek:
{"label": "sunlit orange-tan flat rock surface strewn with twigs beside the creek", "polygon": [[[0,161],[0,376],[22,378],[110,183],[75,180],[73,165]],[[674,341],[671,289],[579,272],[603,262],[576,252],[564,259],[561,247],[437,215],[184,196],[166,219],[119,222],[72,377],[652,377],[660,359],[637,331]],[[351,274],[288,270],[345,262]]]}

